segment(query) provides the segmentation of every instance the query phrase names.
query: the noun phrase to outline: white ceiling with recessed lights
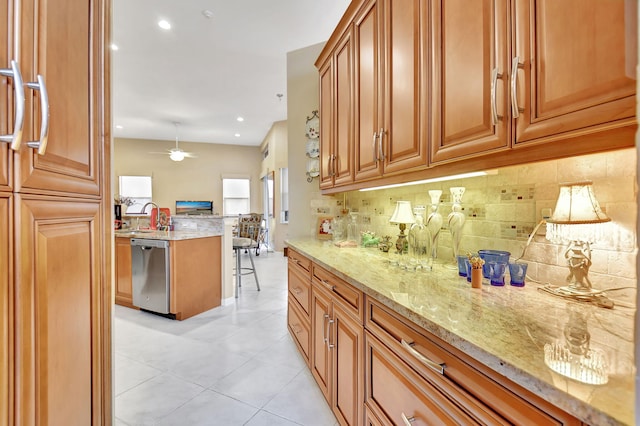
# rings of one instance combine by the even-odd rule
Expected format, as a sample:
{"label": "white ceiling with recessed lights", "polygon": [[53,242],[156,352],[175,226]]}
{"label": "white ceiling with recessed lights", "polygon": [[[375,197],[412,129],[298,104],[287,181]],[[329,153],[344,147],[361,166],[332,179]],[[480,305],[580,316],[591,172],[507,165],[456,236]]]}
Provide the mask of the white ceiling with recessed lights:
{"label": "white ceiling with recessed lights", "polygon": [[287,52],[326,41],[349,0],[113,4],[115,137],[175,140],[179,122],[180,141],[257,146],[287,117]]}

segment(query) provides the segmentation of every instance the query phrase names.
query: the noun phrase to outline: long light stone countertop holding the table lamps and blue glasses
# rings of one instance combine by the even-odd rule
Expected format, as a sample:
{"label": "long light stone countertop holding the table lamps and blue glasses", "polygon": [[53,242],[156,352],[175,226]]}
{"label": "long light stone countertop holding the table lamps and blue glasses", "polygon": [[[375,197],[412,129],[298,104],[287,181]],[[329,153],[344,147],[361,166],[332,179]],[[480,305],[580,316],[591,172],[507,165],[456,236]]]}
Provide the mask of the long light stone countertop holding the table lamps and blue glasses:
{"label": "long light stone countertop holding the table lamps and blue glasses", "polygon": [[[596,308],[525,287],[472,289],[457,267],[401,270],[374,248],[338,248],[331,241],[287,245],[365,294],[462,350],[492,370],[591,425],[634,424],[633,309]],[[485,280],[486,281],[486,280]],[[484,285],[487,284],[487,285]],[[569,309],[587,318],[591,348],[608,358],[609,381],[585,385],[552,372],[544,345],[563,339]]]}

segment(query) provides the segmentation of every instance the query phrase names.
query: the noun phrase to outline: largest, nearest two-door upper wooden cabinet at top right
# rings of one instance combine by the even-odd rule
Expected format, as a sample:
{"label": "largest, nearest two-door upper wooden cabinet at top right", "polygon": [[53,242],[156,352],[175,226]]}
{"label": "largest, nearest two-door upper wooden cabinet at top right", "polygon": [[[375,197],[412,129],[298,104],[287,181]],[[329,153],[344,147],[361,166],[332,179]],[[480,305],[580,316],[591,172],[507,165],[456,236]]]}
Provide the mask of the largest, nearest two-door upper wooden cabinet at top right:
{"label": "largest, nearest two-door upper wooden cabinet at top right", "polygon": [[634,123],[635,2],[512,4],[433,2],[431,163]]}

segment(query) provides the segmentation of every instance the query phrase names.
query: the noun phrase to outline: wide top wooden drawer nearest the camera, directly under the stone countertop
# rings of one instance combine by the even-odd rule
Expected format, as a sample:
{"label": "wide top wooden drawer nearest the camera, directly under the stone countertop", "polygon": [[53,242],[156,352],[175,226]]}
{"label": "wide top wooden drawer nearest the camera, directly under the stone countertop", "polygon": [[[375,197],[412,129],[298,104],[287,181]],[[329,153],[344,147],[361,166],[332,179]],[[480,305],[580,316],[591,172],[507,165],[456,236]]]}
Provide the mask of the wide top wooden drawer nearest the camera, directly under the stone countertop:
{"label": "wide top wooden drawer nearest the camera, directly under the stone countertop", "polygon": [[[510,423],[532,426],[581,424],[576,418],[371,299],[367,299],[365,327],[443,392],[463,393],[465,398],[480,401]],[[438,364],[443,365],[442,373],[427,366],[419,359],[421,357],[435,363],[435,370],[439,368]]]}

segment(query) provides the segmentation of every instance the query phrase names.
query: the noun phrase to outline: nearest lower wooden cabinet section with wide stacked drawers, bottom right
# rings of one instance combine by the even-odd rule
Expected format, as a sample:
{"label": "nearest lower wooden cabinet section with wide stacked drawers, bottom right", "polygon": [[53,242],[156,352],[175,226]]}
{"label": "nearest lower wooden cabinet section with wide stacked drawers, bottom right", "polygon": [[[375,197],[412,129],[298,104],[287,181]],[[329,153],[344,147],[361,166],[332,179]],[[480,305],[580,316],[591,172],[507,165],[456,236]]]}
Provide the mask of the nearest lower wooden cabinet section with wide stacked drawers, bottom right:
{"label": "nearest lower wooden cabinet section with wide stacked drawers, bottom right", "polygon": [[[415,419],[424,419],[425,415],[440,419],[440,415],[444,415],[457,424],[581,424],[575,417],[370,298],[366,300],[365,328],[365,399],[380,418],[383,418],[381,413],[391,412],[395,418],[389,420],[401,422],[397,410],[402,407],[405,415]],[[394,381],[398,389],[387,395]],[[384,384],[384,389],[380,384]],[[397,398],[400,387],[410,389],[413,395]],[[444,411],[429,412],[430,402],[424,400],[425,393]],[[412,404],[407,406],[407,401]],[[456,420],[461,415],[456,406],[466,413],[468,421]],[[420,423],[416,420],[413,424]]]}

